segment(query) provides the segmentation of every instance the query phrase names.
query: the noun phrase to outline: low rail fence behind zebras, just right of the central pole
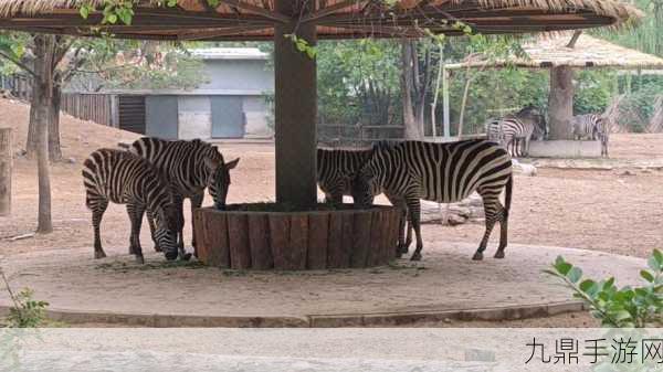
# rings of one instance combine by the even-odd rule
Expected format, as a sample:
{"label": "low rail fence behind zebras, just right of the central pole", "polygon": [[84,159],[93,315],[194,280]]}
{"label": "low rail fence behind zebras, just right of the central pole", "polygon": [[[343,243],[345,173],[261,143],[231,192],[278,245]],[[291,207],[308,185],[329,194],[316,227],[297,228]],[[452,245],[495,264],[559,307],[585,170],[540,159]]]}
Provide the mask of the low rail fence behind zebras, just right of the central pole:
{"label": "low rail fence behind zebras, just right of the central pole", "polygon": [[366,146],[379,140],[404,138],[403,126],[318,125],[318,140],[327,146]]}

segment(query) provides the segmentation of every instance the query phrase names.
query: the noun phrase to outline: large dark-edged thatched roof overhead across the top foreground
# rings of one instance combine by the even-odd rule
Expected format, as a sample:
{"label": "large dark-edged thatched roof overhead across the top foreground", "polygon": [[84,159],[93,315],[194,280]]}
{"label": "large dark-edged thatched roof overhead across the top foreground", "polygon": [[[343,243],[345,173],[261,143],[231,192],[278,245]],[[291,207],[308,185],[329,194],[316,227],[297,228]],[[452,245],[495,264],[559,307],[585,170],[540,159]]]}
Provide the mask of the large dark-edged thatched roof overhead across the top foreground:
{"label": "large dark-edged thatched roof overhead across the top foreground", "polygon": [[[104,0],[0,0],[0,29],[85,35],[99,24],[78,14],[83,3]],[[161,1],[166,2],[166,1]],[[172,9],[141,0],[131,25],[102,29],[120,38],[165,40],[269,40],[274,25],[315,22],[320,39],[421,36],[422,29],[460,34],[450,22],[460,20],[481,33],[561,31],[623,24],[638,19],[635,8],[618,0],[401,0],[388,8],[382,0],[293,0],[313,4],[295,14],[275,10],[275,0],[179,0]]]}

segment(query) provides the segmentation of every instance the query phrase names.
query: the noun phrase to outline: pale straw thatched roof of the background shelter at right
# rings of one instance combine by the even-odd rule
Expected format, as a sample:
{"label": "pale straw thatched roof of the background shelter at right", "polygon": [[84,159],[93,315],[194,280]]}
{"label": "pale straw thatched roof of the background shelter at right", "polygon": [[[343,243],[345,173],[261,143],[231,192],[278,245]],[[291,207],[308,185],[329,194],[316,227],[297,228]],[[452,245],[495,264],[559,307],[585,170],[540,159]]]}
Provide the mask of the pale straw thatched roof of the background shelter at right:
{"label": "pale straw thatched roof of the background shelter at right", "polygon": [[503,67],[515,65],[529,68],[549,68],[554,66],[571,67],[618,67],[663,68],[663,59],[632,49],[615,45],[608,41],[581,34],[573,47],[569,47],[570,33],[549,38],[539,38],[523,45],[526,57],[514,57],[509,61],[482,61],[481,55],[464,63],[446,65],[446,68],[465,68],[467,66]]}

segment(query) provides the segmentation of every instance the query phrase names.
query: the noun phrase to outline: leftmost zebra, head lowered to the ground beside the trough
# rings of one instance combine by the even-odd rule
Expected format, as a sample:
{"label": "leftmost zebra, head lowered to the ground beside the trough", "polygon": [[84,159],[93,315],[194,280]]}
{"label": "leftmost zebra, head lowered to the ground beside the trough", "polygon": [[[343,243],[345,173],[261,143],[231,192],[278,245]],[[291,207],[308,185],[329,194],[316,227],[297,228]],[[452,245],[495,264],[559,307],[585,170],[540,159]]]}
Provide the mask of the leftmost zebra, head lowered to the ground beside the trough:
{"label": "leftmost zebra, head lowered to the ground beside the trough", "polygon": [[140,247],[140,224],[147,211],[154,216],[152,236],[167,259],[178,255],[178,219],[168,183],[148,161],[123,150],[99,149],[83,163],[85,204],[92,210],[94,257],[106,257],[102,247],[99,225],[108,202],[127,204],[131,222],[129,253],[144,263]]}

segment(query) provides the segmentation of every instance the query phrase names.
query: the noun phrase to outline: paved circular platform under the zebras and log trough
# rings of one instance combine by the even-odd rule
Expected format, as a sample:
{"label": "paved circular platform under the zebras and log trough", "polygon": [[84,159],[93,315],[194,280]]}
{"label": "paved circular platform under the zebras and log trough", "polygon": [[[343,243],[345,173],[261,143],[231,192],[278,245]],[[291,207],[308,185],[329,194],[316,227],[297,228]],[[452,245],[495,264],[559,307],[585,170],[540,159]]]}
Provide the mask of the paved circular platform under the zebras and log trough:
{"label": "paved circular platform under the zebras and log trough", "polygon": [[[67,322],[154,327],[343,327],[420,320],[520,319],[582,307],[541,273],[558,255],[594,278],[635,284],[643,259],[582,249],[511,245],[505,259],[473,262],[475,246],[431,242],[421,263],[368,269],[235,272],[169,264],[149,254],[136,265],[126,248],[57,249],[14,255],[3,267]],[[9,305],[0,291],[0,306]]]}

